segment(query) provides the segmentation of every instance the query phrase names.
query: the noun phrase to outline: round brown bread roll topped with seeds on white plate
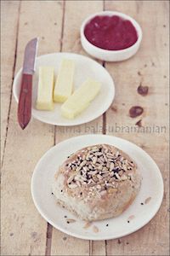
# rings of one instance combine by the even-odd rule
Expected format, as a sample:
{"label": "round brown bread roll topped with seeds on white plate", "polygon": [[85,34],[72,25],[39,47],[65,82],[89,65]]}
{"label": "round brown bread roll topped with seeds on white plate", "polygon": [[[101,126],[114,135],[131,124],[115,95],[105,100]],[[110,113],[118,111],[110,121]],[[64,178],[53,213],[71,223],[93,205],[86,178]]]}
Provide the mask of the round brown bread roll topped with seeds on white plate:
{"label": "round brown bread roll topped with seeds on white plate", "polygon": [[57,202],[92,221],[116,217],[139,192],[141,175],[130,157],[111,145],[99,144],[72,154],[56,172]]}

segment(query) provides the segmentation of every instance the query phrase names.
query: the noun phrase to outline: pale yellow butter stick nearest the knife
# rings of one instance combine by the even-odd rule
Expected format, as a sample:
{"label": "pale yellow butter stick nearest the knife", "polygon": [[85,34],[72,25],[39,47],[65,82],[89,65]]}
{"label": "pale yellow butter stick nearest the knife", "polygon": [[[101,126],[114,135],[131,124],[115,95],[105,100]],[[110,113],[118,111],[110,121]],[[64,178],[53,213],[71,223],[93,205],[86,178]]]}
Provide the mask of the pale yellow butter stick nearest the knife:
{"label": "pale yellow butter stick nearest the knife", "polygon": [[54,67],[39,67],[37,109],[53,110]]}

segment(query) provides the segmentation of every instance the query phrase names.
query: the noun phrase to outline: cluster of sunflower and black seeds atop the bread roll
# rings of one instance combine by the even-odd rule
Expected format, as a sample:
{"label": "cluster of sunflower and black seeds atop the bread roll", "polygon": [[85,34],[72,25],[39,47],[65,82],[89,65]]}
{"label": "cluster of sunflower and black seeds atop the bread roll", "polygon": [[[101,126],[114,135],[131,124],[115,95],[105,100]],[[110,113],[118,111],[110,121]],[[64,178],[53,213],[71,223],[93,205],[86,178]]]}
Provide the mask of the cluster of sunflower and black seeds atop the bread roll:
{"label": "cluster of sunflower and black seeds atop the bread roll", "polygon": [[[71,161],[71,157],[68,161]],[[113,152],[107,145],[82,150],[77,154],[77,159],[74,158],[66,166],[67,185],[70,189],[84,186],[92,191],[97,189],[100,195],[105,195],[113,191],[111,189],[116,189],[119,182],[134,182],[133,161],[126,160],[118,150]]]}

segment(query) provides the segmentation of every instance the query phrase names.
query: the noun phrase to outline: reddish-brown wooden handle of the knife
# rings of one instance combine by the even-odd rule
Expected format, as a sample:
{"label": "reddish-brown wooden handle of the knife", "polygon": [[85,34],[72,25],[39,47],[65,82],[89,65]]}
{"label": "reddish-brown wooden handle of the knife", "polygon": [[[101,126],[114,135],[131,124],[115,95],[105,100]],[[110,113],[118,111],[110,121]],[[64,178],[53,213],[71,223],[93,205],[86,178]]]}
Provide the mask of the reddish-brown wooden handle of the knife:
{"label": "reddish-brown wooden handle of the knife", "polygon": [[18,120],[20,127],[24,130],[31,119],[32,75],[23,73],[20,85]]}

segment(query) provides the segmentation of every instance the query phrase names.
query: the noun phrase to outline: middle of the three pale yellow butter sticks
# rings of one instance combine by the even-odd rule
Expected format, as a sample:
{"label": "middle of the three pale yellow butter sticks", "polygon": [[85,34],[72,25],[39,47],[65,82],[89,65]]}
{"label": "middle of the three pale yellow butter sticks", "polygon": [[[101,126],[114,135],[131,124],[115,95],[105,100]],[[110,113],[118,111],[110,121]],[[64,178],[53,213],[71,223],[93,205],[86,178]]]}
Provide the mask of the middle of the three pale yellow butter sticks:
{"label": "middle of the three pale yellow butter sticks", "polygon": [[65,102],[73,90],[75,63],[64,59],[59,67],[59,74],[55,82],[54,102]]}

